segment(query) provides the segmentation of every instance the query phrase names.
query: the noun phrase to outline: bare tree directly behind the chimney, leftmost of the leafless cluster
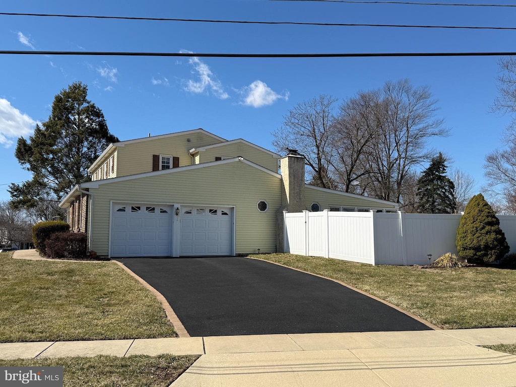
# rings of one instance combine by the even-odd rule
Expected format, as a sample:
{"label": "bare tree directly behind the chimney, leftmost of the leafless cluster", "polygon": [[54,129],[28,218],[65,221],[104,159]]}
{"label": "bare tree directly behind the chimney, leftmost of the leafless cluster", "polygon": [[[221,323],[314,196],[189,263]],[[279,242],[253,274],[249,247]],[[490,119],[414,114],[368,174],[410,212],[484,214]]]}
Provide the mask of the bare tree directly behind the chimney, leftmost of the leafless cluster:
{"label": "bare tree directly behind the chimney, leftmost of the leafless cluster", "polygon": [[283,125],[272,132],[272,141],[278,153],[296,149],[303,154],[312,183],[324,188],[333,188],[329,176],[332,143],[329,127],[333,120],[333,104],[337,101],[330,95],[301,102],[283,117]]}

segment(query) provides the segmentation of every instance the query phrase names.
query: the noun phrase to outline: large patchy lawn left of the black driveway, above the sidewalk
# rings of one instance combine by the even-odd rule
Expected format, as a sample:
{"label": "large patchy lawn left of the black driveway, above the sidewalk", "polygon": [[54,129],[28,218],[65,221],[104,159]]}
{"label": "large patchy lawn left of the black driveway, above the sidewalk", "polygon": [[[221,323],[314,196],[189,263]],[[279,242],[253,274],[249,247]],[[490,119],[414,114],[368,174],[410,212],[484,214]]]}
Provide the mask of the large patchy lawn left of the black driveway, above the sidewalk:
{"label": "large patchy lawn left of the black driveway, above the sidewalk", "polygon": [[114,262],[0,253],[0,342],[173,337],[154,295]]}

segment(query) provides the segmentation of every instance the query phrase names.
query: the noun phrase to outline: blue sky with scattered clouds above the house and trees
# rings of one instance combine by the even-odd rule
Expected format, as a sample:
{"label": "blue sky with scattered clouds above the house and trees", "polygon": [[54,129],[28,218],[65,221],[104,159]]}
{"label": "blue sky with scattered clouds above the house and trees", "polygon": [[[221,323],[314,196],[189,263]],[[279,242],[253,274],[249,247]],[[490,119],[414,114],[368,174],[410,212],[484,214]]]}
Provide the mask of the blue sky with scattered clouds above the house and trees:
{"label": "blue sky with scattered clouds above the house and trees", "polygon": [[[421,0],[423,1],[423,0]],[[445,2],[445,1],[443,1]],[[451,2],[450,2],[451,3]],[[456,0],[453,3],[457,3]],[[467,3],[492,3],[491,0]],[[498,0],[496,4],[513,4]],[[121,7],[120,4],[123,4]],[[494,3],[493,3],[494,4]],[[322,23],[514,26],[516,8],[191,0],[188,2],[5,0],[0,12]],[[514,51],[516,31],[237,25],[0,15],[0,50],[194,53]],[[496,57],[173,58],[21,56],[0,58],[0,200],[29,179],[14,157],[19,136],[50,115],[54,95],[75,81],[121,140],[202,127],[271,149],[271,132],[297,103],[339,99],[409,78],[428,85],[451,136],[430,144],[478,185],[483,158],[501,147],[509,117],[490,112]]]}

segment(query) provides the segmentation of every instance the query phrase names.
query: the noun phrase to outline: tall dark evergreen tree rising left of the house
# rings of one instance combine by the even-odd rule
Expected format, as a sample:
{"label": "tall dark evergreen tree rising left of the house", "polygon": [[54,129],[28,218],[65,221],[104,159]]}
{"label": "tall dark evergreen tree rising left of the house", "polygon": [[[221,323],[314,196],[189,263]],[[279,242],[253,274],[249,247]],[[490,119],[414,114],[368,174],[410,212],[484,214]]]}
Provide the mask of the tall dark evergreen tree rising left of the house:
{"label": "tall dark evergreen tree rising left of the house", "polygon": [[18,139],[14,155],[33,178],[9,186],[13,207],[58,202],[73,186],[88,181],[88,167],[110,142],[119,141],[109,133],[102,110],[87,94],[88,87],[81,82],[61,90],[49,119],[36,125],[29,141]]}

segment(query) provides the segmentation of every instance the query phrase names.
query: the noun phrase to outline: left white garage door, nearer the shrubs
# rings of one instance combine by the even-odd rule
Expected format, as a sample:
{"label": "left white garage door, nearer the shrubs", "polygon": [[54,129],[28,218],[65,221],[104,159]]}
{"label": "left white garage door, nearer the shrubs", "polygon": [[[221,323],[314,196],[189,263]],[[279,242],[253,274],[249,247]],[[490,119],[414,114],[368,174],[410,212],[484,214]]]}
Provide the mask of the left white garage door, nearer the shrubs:
{"label": "left white garage door, nearer the shrubs", "polygon": [[172,206],[114,204],[111,256],[171,256]]}

